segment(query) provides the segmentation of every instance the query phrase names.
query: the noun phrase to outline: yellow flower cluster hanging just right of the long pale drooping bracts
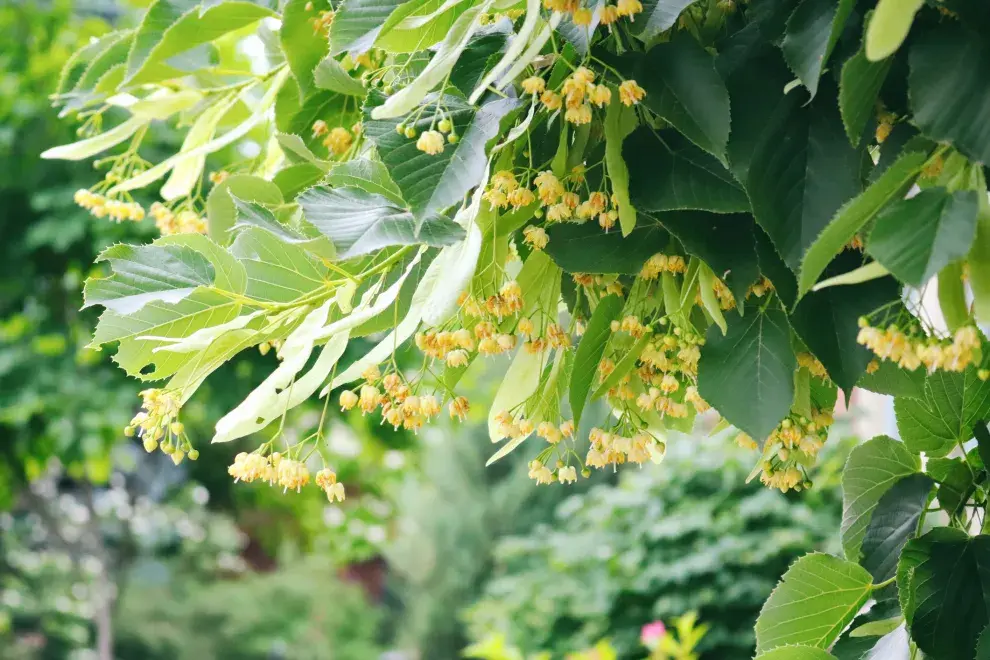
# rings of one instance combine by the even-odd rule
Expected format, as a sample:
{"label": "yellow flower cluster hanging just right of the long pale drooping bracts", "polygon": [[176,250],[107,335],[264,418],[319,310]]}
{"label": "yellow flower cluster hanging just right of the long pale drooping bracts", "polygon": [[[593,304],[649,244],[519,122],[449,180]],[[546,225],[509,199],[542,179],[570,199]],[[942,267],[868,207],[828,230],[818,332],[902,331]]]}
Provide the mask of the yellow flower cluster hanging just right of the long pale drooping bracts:
{"label": "yellow flower cluster hanging just right of the long pale drooping bracts", "polygon": [[[434,395],[413,394],[412,388],[399,374],[390,373],[382,377],[378,367],[369,367],[362,375],[365,382],[357,393],[350,390],[341,393],[341,410],[358,406],[362,413],[368,414],[381,407],[383,423],[410,431],[418,431],[427,420],[440,414],[440,403]],[[466,404],[467,400],[462,403],[458,403],[458,399],[452,401],[450,416],[461,417],[461,407],[466,414]]]}

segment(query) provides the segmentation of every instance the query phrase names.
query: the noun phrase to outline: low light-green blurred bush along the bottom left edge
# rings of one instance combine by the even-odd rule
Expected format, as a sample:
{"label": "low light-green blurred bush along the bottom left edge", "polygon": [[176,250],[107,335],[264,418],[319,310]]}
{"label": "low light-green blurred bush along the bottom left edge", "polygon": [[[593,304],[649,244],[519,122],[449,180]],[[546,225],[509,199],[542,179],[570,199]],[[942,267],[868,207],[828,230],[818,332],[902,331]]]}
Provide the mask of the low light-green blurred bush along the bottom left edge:
{"label": "low light-green blurred bush along the bottom left edge", "polygon": [[374,660],[381,615],[325,559],[236,580],[133,585],[116,653],[133,660]]}

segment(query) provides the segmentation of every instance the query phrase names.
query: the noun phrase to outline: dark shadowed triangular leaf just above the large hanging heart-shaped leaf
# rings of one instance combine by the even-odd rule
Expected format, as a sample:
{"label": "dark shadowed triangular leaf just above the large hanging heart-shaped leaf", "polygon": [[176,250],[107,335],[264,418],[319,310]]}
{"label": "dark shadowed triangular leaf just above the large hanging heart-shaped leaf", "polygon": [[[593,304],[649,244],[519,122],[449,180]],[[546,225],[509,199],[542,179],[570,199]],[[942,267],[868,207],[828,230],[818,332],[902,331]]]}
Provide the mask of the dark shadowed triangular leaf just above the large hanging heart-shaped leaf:
{"label": "dark shadowed triangular leaf just above the large hanging heart-shaped leaf", "polygon": [[659,213],[657,219],[688,254],[711,267],[737,301],[746,297],[749,286],[760,277],[753,216],[679,211]]}

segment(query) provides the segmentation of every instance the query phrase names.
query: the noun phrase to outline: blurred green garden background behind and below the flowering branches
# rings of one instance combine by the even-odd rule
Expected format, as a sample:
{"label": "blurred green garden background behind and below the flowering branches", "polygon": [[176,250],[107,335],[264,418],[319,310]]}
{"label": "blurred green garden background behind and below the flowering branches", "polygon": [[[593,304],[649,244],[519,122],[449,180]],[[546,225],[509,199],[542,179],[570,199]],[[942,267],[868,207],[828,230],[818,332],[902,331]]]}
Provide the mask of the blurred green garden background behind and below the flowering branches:
{"label": "blurred green garden background behind and below the flowering branches", "polygon": [[[689,611],[711,628],[702,657],[750,657],[776,578],[838,527],[841,443],[796,496],[746,485],[756,456],[724,437],[537,489],[522,458],[484,467],[480,423],[416,437],[337,416],[348,500],[332,506],[316,489],[233,484],[226,466],[247,444],[201,442],[176,467],[123,437],[139,386],[85,348],[81,284],[103,248],[154,230],[91,218],[72,204],[91,166],[37,155],[73,138],[48,100],[65,59],[140,4],[0,0],[0,30],[16,35],[0,42],[0,658],[446,660],[493,636],[526,657],[609,638],[643,658],[641,627]],[[176,147],[167,127],[155,140]],[[211,379],[184,411],[192,437],[273,359]],[[492,379],[472,378],[483,400]]]}

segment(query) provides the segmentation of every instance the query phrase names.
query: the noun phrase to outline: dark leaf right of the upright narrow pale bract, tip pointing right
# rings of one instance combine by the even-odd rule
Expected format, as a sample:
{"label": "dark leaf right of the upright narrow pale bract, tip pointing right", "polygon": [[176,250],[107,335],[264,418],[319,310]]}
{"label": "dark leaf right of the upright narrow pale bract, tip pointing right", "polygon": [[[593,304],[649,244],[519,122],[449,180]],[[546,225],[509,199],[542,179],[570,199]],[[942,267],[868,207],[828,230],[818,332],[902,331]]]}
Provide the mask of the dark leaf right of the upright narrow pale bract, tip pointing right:
{"label": "dark leaf right of the upright narrow pale bract, tip pointing right", "polygon": [[722,163],[675,131],[642,127],[626,140],[629,196],[636,208],[658,211],[749,211],[746,191]]}

